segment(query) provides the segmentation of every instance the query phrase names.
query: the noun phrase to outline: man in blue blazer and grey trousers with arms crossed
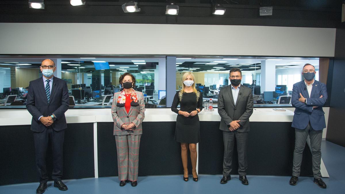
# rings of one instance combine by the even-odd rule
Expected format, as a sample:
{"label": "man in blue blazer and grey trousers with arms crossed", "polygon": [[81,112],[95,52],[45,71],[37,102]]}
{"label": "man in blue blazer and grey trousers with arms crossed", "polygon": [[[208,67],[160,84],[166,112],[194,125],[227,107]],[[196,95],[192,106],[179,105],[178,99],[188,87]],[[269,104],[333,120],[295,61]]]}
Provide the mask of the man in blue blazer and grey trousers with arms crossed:
{"label": "man in blue blazer and grey trousers with arms crossed", "polygon": [[321,188],[326,184],[321,179],[321,140],[322,131],[326,128],[325,112],[322,106],[327,100],[327,89],[324,83],[314,79],[316,71],[311,64],[305,64],[302,70],[303,81],[294,84],[292,89],[292,106],[295,107],[292,127],[295,128],[295,150],[293,160],[293,173],[290,185],[296,185],[300,174],[302,153],[306,138],[310,137],[312,150],[314,183]]}

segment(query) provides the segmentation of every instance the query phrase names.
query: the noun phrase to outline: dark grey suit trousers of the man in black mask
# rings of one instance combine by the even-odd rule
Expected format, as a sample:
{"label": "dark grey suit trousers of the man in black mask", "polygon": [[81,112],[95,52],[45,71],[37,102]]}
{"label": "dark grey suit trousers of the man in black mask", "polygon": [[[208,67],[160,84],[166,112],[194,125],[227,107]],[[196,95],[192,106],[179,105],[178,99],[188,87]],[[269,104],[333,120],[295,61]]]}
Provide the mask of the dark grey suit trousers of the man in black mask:
{"label": "dark grey suit trousers of the man in black mask", "polygon": [[223,160],[223,176],[230,176],[232,170],[232,160],[234,153],[234,142],[236,138],[237,154],[238,154],[238,175],[246,176],[247,164],[247,139],[249,132],[225,132],[223,131],[224,141],[224,160]]}

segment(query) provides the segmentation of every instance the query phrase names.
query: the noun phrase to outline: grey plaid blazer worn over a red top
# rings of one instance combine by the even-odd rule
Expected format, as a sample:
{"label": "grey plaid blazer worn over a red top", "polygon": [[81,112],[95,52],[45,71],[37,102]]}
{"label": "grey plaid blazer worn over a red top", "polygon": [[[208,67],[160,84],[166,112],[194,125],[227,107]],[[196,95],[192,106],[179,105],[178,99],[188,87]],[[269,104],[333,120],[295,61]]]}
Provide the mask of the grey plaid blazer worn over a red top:
{"label": "grey plaid blazer worn over a red top", "polygon": [[[139,106],[131,106],[128,114],[125,107],[116,106],[117,98],[121,91],[114,94],[111,106],[112,120],[114,120],[114,135],[142,134],[141,123],[145,117],[144,96],[140,91],[135,92],[137,93]],[[123,124],[129,125],[131,123],[135,125],[132,130],[121,129]]]}

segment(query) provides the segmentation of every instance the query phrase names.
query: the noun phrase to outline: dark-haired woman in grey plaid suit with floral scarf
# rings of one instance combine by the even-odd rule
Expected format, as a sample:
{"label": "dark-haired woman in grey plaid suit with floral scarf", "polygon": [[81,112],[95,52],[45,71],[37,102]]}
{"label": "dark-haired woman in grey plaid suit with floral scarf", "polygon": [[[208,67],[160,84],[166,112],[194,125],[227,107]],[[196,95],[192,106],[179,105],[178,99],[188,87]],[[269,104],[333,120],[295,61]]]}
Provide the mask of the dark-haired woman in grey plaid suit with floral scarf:
{"label": "dark-haired woman in grey plaid suit with floral scarf", "polygon": [[137,186],[141,123],[145,117],[144,96],[135,91],[135,77],[130,73],[120,76],[124,90],[114,94],[111,113],[117,148],[117,164],[120,186],[131,182]]}

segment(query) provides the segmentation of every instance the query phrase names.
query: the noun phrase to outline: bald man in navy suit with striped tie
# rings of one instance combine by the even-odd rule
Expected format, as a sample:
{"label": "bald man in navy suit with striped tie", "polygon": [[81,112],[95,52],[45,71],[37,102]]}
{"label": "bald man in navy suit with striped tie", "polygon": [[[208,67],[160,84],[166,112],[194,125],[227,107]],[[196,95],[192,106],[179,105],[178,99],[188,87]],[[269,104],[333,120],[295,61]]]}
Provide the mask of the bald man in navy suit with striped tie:
{"label": "bald man in navy suit with striped tie", "polygon": [[67,128],[65,112],[69,106],[67,84],[65,80],[53,76],[56,67],[52,60],[43,60],[40,69],[43,77],[30,81],[26,105],[32,115],[31,130],[40,181],[37,194],[44,193],[47,188],[46,153],[49,138],[52,143],[54,186],[61,191],[68,189],[61,181],[64,129]]}

